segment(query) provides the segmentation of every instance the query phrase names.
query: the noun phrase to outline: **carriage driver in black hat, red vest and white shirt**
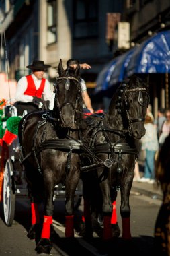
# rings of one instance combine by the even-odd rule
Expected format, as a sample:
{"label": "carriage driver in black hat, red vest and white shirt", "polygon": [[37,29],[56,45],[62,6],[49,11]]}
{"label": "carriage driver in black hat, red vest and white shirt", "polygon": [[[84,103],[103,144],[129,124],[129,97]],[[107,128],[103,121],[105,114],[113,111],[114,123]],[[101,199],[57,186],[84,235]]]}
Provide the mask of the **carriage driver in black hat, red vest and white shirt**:
{"label": "carriage driver in black hat, red vest and white shirt", "polygon": [[51,67],[44,64],[44,61],[35,60],[32,65],[26,66],[32,69],[31,75],[26,75],[17,82],[14,106],[17,108],[17,115],[40,110],[45,102],[46,108],[52,109],[54,98],[50,90],[50,82],[43,78],[44,71]]}

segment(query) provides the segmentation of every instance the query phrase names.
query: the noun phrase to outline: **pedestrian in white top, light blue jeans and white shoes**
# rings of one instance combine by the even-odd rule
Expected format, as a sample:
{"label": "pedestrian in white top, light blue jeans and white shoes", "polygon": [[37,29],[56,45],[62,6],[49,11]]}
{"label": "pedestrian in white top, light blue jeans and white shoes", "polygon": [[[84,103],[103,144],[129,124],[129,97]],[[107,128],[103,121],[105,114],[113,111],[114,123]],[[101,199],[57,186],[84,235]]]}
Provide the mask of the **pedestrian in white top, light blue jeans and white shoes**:
{"label": "pedestrian in white top, light blue jeans and white shoes", "polygon": [[150,115],[146,114],[144,127],[146,129],[145,135],[141,139],[142,150],[146,151],[146,158],[144,161],[144,177],[140,178],[138,182],[155,183],[155,153],[159,148],[157,129],[153,125],[153,120]]}

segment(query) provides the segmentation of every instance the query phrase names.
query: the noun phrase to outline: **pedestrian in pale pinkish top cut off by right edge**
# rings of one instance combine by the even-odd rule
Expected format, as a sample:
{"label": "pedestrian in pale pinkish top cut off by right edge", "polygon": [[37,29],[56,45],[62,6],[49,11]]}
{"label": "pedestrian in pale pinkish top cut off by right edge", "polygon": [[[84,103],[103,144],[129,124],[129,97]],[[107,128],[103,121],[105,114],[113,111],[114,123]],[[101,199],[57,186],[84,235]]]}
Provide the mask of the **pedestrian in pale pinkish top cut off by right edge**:
{"label": "pedestrian in pale pinkish top cut off by right edge", "polygon": [[162,127],[161,127],[161,132],[159,135],[159,148],[163,145],[166,137],[170,133],[170,109],[167,109],[165,111],[165,121],[163,121]]}

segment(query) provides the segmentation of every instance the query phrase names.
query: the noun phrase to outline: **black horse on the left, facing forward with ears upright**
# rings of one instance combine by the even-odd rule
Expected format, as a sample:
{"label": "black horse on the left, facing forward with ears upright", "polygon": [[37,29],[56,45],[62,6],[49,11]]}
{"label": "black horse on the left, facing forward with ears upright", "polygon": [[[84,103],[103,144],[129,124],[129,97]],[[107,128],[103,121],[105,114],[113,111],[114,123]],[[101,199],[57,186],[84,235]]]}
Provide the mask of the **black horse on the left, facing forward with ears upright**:
{"label": "black horse on the left, facing forward with ears upright", "polygon": [[74,236],[74,195],[80,176],[80,139],[83,107],[77,68],[58,65],[59,77],[54,84],[54,109],[28,113],[19,123],[22,164],[26,172],[31,199],[32,226],[29,238],[34,238],[40,222],[38,204],[44,203],[44,223],[37,253],[50,253],[50,226],[54,211],[54,187],[65,185],[65,236]]}

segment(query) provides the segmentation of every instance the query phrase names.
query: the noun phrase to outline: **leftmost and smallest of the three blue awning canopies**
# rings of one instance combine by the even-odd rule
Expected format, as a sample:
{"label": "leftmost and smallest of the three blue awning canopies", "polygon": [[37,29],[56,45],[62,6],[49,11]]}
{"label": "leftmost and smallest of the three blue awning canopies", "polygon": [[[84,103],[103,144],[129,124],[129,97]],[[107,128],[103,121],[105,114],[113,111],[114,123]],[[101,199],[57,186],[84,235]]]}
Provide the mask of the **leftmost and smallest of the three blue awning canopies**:
{"label": "leftmost and smallest of the three blue awning canopies", "polygon": [[108,89],[108,83],[110,82],[110,76],[116,67],[118,58],[112,59],[108,64],[103,67],[96,80],[95,94]]}

